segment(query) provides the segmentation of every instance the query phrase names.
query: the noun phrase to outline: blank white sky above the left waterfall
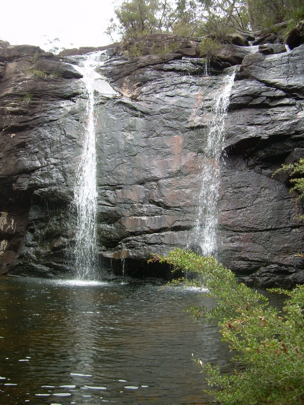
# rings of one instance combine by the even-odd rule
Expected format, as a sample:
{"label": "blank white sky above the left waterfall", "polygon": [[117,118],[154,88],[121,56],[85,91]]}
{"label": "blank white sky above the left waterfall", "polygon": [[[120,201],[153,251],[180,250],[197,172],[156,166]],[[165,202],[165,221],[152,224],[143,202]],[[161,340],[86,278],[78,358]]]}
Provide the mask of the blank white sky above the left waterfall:
{"label": "blank white sky above the left waterfall", "polygon": [[[11,0],[1,2],[0,39],[11,45],[44,45],[58,37],[58,47],[103,46],[112,41],[104,34],[114,7],[121,0]],[[119,37],[114,38],[119,41]],[[71,45],[72,44],[72,45]]]}

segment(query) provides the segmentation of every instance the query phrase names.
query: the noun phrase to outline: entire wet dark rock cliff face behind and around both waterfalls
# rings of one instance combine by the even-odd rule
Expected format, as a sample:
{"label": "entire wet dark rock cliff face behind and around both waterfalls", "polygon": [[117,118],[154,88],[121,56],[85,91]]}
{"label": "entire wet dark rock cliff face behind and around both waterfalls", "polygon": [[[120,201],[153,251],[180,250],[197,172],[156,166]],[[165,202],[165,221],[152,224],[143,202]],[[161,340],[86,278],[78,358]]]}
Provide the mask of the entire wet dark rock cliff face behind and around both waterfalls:
{"label": "entire wet dark rock cliff face behind and around both waterfalls", "polygon": [[[289,193],[288,174],[272,178],[284,161],[304,156],[304,47],[286,53],[277,45],[228,46],[213,76],[205,75],[202,59],[180,54],[105,63],[101,73],[120,94],[96,93],[105,263],[123,259],[126,271],[140,274],[151,254],[189,244],[206,131],[223,78],[234,68],[221,70],[241,63],[226,120],[218,258],[256,287],[304,282],[302,204]],[[16,54],[8,48],[14,47],[0,43],[0,53]],[[2,271],[65,273],[72,263],[71,202],[86,100],[68,58],[22,52],[0,60]]]}

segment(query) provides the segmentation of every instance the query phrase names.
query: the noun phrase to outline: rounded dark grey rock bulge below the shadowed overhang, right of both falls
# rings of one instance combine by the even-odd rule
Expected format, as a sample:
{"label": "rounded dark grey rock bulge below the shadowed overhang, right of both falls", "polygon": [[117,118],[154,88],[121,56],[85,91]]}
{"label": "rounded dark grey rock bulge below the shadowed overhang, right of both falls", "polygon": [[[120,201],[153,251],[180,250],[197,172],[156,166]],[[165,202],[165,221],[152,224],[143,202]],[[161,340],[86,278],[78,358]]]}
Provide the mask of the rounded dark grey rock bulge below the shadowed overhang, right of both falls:
{"label": "rounded dark grey rock bulge below the shadowed overhang, right of both falls", "polygon": [[252,171],[245,159],[231,157],[223,168],[220,207],[220,261],[253,287],[300,282],[304,240],[296,194],[265,176],[265,169]]}

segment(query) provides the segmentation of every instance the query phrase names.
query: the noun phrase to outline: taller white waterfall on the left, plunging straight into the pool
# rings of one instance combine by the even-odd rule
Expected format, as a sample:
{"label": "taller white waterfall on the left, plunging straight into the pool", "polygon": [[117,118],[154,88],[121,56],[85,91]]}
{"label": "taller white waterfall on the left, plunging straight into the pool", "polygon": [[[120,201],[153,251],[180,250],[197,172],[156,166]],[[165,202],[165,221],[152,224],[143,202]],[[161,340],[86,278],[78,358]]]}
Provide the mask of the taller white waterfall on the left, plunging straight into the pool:
{"label": "taller white waterfall on the left, plunging straight into the pool", "polygon": [[87,94],[87,123],[74,188],[74,205],[77,207],[74,255],[78,279],[94,278],[98,253],[94,80],[100,77],[95,72],[100,63],[100,55],[101,52],[89,54],[79,69],[84,76],[84,92]]}

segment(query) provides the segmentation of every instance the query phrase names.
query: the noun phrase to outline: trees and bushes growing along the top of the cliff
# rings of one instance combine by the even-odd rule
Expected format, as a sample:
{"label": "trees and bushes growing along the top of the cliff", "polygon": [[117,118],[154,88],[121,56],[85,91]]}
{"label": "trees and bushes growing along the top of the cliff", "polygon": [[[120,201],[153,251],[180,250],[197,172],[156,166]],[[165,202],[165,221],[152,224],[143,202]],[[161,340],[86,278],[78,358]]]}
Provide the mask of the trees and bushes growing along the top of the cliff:
{"label": "trees and bushes growing along the top of the cliff", "polygon": [[304,0],[126,0],[115,9],[108,35],[123,37],[151,33],[213,34],[222,40],[236,30],[257,30],[290,20],[289,28],[304,18]]}

